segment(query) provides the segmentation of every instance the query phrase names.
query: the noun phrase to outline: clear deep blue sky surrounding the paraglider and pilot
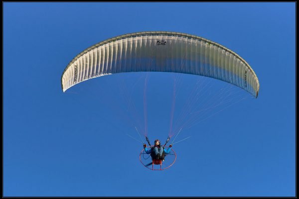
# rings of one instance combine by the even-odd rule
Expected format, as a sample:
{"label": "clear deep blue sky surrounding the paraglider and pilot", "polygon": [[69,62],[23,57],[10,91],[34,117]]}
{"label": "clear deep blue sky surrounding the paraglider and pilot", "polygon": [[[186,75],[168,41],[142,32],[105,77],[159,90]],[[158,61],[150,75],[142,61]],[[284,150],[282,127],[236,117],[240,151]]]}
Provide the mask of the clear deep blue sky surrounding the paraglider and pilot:
{"label": "clear deep blue sky surrounding the paraglider and pilot", "polygon": [[[3,196],[294,197],[295,16],[295,2],[4,2]],[[65,93],[60,86],[78,53],[139,31],[217,42],[244,58],[261,85],[257,99],[232,88],[246,99],[183,128],[175,142],[191,137],[174,144],[176,162],[164,171],[145,168],[142,143],[127,135],[141,140],[146,73],[95,78]],[[149,74],[151,142],[167,138],[173,77],[181,80],[174,117],[199,87],[197,76]],[[191,108],[206,92],[217,103],[217,89],[228,86],[203,82],[211,89]],[[139,116],[130,117],[124,94]]]}

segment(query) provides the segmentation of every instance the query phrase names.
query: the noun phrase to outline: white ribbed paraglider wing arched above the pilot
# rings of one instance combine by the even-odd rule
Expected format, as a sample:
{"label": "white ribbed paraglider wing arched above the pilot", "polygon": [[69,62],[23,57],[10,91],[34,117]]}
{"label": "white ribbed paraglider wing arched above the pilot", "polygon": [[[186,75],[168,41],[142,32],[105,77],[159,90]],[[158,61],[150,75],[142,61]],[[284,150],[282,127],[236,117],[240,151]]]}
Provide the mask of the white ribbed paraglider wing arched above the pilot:
{"label": "white ribbed paraglider wing arched above the pilot", "polygon": [[173,72],[206,76],[236,85],[254,97],[259,81],[239,55],[210,40],[178,32],[137,32],[121,35],[77,55],[61,77],[70,87],[104,75],[125,72]]}

